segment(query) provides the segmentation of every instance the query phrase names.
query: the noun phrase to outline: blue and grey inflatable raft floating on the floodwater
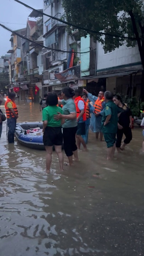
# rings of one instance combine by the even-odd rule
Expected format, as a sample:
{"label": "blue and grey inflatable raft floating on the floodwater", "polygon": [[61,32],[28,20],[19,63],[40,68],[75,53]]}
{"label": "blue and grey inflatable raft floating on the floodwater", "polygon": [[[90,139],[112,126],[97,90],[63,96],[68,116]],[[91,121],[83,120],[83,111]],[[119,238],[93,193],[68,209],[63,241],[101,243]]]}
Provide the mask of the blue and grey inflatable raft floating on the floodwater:
{"label": "blue and grey inflatable raft floating on the floodwater", "polygon": [[39,127],[43,128],[42,122],[25,122],[25,123],[17,123],[15,136],[18,141],[28,148],[45,150],[43,145],[43,134],[41,135],[33,135],[32,133],[27,134],[27,130],[34,129]]}

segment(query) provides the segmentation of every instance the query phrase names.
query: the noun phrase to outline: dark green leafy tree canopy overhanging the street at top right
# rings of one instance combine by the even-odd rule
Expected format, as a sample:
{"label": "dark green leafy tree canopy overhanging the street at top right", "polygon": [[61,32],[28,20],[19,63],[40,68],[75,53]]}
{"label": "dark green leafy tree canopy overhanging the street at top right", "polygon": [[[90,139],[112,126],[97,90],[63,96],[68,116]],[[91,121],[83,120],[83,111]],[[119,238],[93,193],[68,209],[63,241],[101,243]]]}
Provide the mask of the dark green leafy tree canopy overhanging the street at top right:
{"label": "dark green leafy tree canopy overhanging the street at top right", "polygon": [[[144,37],[142,0],[63,0],[63,7],[68,22],[97,32],[135,37],[129,11],[132,10],[140,37]],[[76,30],[76,28],[72,28]],[[88,32],[81,30],[80,35],[86,37]],[[96,40],[103,44],[105,50],[114,50],[121,46],[126,39],[102,36],[91,33]],[[127,40],[128,46],[134,46],[136,41]]]}

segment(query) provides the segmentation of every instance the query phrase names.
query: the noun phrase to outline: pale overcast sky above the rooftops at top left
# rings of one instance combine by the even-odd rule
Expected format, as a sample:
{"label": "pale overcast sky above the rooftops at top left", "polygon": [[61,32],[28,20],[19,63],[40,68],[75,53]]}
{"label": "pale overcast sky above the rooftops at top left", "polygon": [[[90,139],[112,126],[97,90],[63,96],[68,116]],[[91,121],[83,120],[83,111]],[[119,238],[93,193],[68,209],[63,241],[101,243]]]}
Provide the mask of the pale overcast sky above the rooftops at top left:
{"label": "pale overcast sky above the rooftops at top left", "polygon": [[[43,0],[20,0],[25,4],[32,6],[34,9],[43,9]],[[0,23],[12,30],[18,30],[26,27],[28,15],[32,10],[27,9],[25,6],[18,4],[14,0],[0,0]],[[29,20],[34,20],[29,17]],[[17,24],[10,24],[17,23]],[[11,32],[6,31],[0,27],[0,57],[5,55],[11,49],[10,43]]]}

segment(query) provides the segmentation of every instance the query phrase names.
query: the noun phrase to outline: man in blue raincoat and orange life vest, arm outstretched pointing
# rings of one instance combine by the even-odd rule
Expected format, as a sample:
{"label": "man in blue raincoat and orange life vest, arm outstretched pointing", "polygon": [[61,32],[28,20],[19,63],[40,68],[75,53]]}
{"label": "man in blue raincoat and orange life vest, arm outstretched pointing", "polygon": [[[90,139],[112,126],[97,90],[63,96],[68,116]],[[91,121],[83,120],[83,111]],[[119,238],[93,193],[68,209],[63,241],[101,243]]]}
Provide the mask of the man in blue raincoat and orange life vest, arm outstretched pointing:
{"label": "man in blue raincoat and orange life vest, arm outstretched pointing", "polygon": [[[95,105],[95,102],[97,99],[102,100],[104,96],[103,91],[99,92],[98,97],[92,95],[85,89],[83,89],[83,92],[87,94],[87,97],[92,102],[93,106]],[[93,112],[91,114],[91,119],[90,119],[90,130],[96,133],[96,139],[98,139],[98,134],[100,133],[100,140],[102,141],[103,133],[102,133],[101,121],[102,121],[103,111],[105,109],[105,101],[102,101],[101,109],[102,110],[100,112],[95,113],[95,107],[93,108]]]}

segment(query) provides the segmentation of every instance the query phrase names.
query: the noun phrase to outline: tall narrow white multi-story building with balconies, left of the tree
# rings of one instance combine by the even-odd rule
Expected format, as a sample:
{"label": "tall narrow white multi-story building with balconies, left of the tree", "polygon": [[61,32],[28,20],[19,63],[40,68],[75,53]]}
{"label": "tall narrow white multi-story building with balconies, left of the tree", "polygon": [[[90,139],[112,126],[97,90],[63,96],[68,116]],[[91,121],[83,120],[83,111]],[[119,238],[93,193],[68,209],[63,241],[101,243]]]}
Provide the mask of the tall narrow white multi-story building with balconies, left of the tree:
{"label": "tall narrow white multi-story building with balconies, left of the tree", "polygon": [[[62,7],[62,0],[43,1],[43,12],[57,17],[64,17],[64,9]],[[59,90],[62,87],[61,82],[55,79],[54,74],[62,72],[66,69],[67,53],[59,52],[58,49],[68,50],[68,33],[66,25],[47,16],[43,17],[43,34],[44,46],[51,49],[43,49],[43,80],[45,91]],[[48,88],[49,87],[49,88]]]}

